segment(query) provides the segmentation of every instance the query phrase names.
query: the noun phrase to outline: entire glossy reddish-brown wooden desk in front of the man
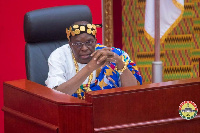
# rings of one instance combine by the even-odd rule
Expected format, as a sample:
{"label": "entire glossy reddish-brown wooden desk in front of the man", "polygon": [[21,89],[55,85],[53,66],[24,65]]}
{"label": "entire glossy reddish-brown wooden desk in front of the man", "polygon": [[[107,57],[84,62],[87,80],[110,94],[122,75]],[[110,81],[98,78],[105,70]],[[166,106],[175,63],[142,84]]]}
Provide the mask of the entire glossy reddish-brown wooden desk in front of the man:
{"label": "entire glossy reddish-brown wooden desk in front of the man", "polygon": [[86,93],[80,100],[23,79],[4,82],[5,133],[200,133],[183,101],[200,108],[200,78]]}

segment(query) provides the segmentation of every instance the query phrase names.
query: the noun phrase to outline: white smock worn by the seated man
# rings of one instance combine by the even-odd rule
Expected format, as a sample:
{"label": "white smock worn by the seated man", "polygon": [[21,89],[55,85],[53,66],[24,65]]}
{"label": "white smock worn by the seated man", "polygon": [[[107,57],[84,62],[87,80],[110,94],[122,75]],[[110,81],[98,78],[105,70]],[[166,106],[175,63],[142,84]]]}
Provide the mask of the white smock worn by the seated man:
{"label": "white smock worn by the seated man", "polygon": [[[48,59],[49,73],[45,84],[49,88],[54,88],[60,84],[68,81],[76,75],[76,69],[72,57],[72,51],[69,44],[65,44],[51,53]],[[79,71],[87,64],[78,63]],[[96,79],[96,70],[93,71],[93,79],[91,83],[94,83]],[[88,83],[88,77],[83,84]]]}

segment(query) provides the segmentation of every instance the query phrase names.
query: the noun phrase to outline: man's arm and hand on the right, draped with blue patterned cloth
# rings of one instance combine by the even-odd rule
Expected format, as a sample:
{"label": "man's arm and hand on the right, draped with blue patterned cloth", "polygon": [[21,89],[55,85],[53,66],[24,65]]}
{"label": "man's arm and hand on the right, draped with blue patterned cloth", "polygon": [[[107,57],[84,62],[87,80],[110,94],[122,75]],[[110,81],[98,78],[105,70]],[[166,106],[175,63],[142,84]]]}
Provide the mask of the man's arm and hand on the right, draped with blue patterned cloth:
{"label": "man's arm and hand on the right, draped with blue patterned cloth", "polygon": [[128,65],[125,66],[126,69],[120,75],[122,87],[137,85],[137,80],[140,82],[140,84],[142,84],[141,76],[139,75],[137,66],[135,66],[135,64],[130,60],[128,54],[119,49],[114,50],[115,52],[117,51],[117,54],[112,51],[112,48],[103,48],[95,51],[93,56],[97,58],[97,62],[105,61],[103,66],[109,65],[110,62],[116,63],[117,70],[123,69],[125,65],[124,61],[126,61],[126,65]]}

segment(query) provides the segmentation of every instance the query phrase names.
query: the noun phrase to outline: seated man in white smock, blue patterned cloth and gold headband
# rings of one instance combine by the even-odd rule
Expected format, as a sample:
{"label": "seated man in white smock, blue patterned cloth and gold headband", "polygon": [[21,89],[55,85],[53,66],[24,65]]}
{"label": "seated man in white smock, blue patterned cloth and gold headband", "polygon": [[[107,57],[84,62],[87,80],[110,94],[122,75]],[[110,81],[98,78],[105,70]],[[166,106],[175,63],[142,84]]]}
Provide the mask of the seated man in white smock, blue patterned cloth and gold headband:
{"label": "seated man in white smock, blue patterned cloth and gold headband", "polygon": [[96,25],[78,21],[66,33],[69,44],[48,59],[47,87],[84,99],[88,91],[142,84],[127,53],[96,43]]}

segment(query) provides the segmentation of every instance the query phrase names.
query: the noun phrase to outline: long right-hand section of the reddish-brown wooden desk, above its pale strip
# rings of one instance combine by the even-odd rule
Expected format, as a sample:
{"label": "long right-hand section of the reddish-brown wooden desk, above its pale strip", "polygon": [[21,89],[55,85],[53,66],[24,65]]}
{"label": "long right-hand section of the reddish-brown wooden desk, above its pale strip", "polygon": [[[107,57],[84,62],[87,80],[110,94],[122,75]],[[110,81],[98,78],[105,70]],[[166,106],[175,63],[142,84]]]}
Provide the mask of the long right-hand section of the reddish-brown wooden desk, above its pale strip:
{"label": "long right-hand section of the reddish-brown wooden desk, above its pale strip", "polygon": [[178,111],[181,102],[193,101],[200,107],[200,78],[89,92],[86,100],[93,103],[96,130],[175,121],[182,119]]}

